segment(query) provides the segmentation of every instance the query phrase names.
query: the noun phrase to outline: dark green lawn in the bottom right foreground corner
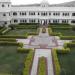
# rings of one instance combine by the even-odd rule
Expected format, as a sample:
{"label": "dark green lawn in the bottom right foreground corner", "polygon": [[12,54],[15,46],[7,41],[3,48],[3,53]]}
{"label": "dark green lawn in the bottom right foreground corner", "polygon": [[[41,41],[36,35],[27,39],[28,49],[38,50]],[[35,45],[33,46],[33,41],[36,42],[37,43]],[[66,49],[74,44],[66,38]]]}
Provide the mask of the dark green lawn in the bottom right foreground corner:
{"label": "dark green lawn in the bottom right foreground corner", "polygon": [[60,75],[75,75],[75,48],[71,48],[69,54],[58,54],[61,74]]}

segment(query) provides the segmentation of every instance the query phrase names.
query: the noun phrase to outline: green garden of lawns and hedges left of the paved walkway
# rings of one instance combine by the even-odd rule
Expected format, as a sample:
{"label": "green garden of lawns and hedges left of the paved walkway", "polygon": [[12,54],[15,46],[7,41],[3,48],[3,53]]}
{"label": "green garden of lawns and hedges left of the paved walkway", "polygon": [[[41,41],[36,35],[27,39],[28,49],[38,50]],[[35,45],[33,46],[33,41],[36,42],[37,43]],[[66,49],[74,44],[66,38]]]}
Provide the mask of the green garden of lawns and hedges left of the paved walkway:
{"label": "green garden of lawns and hedges left of the paved walkway", "polygon": [[16,39],[38,35],[38,24],[18,24],[0,27],[0,75],[29,75],[34,51],[23,49]]}

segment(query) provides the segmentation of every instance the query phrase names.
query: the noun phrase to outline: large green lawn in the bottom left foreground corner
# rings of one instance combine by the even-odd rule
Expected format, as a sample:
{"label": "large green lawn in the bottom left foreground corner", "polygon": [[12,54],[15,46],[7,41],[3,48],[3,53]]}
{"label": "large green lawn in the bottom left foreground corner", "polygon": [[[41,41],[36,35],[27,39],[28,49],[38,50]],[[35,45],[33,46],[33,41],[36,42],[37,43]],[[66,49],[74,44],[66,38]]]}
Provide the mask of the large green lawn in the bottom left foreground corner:
{"label": "large green lawn in the bottom left foreground corner", "polygon": [[0,46],[0,74],[21,75],[26,55],[17,53],[17,46]]}

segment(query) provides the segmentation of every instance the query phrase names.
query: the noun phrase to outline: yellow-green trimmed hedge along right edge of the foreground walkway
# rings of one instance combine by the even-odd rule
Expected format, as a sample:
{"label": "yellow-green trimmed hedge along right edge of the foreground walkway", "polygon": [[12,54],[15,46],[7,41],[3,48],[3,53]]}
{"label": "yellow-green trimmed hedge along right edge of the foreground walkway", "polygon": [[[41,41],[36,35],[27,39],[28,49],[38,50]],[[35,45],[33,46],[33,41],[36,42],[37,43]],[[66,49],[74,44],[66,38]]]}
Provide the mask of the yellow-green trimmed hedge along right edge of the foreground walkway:
{"label": "yellow-green trimmed hedge along right edge of the foreground walkway", "polygon": [[59,60],[58,60],[58,57],[57,57],[57,52],[56,50],[52,50],[52,54],[53,54],[53,61],[54,61],[54,67],[55,67],[55,74],[56,75],[60,75],[60,64],[59,64]]}

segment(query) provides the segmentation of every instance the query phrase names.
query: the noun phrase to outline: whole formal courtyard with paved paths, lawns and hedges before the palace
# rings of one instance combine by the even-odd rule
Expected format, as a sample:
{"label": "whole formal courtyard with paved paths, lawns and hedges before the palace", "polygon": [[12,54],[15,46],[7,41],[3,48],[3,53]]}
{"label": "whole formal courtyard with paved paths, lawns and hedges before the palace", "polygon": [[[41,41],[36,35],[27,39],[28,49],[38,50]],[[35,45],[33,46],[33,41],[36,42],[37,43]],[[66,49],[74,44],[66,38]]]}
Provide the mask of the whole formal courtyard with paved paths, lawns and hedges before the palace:
{"label": "whole formal courtyard with paved paths, lawns and hedges before the palace", "polygon": [[[55,28],[53,28],[55,27]],[[52,36],[52,33],[61,33],[62,36],[75,36],[72,26],[70,30],[67,28],[64,30],[65,25],[49,26],[45,27],[46,32],[43,33],[43,27],[38,27],[39,33],[28,34],[34,29],[13,29],[0,37],[0,74],[1,75],[74,75],[74,39],[61,39],[59,36]],[[51,35],[49,29],[52,29]],[[58,30],[59,28],[59,30]],[[2,29],[2,28],[1,28]],[[61,32],[62,30],[62,32]],[[21,32],[22,31],[22,32]],[[71,34],[65,33],[65,31]],[[14,38],[9,36],[25,36],[27,38]],[[67,34],[67,35],[66,35]],[[73,35],[72,35],[73,34]],[[71,37],[70,37],[71,38]],[[70,48],[70,52],[65,43],[71,43],[73,41],[73,47]],[[64,49],[64,50],[63,50]],[[55,56],[55,51],[56,55]],[[67,53],[65,53],[67,51]],[[64,52],[64,53],[63,53]],[[56,58],[57,57],[57,58]],[[55,60],[57,59],[57,60]],[[43,62],[41,61],[43,60]],[[31,63],[30,63],[31,62]],[[57,64],[58,62],[58,64]],[[70,65],[70,62],[72,65]],[[43,63],[43,64],[42,64]],[[39,65],[42,64],[42,65]],[[59,65],[57,69],[57,65]],[[44,67],[44,68],[43,68]],[[42,69],[40,69],[42,68]]]}

